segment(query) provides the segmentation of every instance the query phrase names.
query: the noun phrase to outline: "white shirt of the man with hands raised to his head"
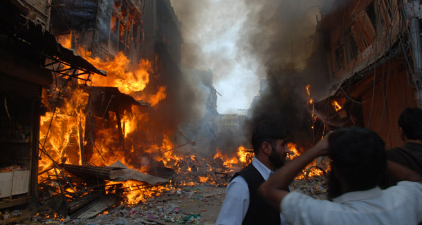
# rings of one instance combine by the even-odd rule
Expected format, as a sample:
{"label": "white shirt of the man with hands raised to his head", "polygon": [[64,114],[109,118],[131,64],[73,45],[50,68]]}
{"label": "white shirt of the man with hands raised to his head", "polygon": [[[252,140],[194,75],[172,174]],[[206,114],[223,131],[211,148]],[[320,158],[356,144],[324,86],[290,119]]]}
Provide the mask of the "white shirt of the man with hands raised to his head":
{"label": "white shirt of the man with hands raised to his head", "polygon": [[286,195],[280,208],[289,224],[418,224],[422,221],[422,184],[398,182],[340,195],[333,202],[302,193]]}

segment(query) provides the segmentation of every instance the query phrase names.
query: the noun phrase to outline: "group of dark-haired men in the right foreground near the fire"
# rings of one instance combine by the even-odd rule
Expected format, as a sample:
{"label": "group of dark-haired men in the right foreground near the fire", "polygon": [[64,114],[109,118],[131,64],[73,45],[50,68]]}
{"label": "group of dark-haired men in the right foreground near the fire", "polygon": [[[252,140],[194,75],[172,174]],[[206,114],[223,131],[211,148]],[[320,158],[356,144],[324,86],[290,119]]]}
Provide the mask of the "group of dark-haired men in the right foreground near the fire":
{"label": "group of dark-haired men in the right foreground near the fire", "polygon": [[[286,130],[262,121],[252,135],[253,162],[227,186],[216,224],[419,224],[422,222],[422,109],[398,119],[404,146],[385,150],[372,130],[340,128],[291,162]],[[297,173],[328,156],[328,200],[290,191]]]}

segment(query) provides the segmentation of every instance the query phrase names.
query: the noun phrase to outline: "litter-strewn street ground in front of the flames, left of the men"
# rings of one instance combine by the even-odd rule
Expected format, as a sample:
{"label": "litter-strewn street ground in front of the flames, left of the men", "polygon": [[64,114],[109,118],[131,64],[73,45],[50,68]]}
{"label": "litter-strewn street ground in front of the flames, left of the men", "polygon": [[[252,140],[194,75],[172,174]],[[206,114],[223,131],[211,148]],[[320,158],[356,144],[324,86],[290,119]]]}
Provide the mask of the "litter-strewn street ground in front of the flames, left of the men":
{"label": "litter-strewn street ground in front of the flames, left of the men", "polygon": [[[173,188],[146,202],[120,204],[93,218],[46,217],[41,213],[32,224],[214,224],[224,199],[225,187],[210,184]],[[24,223],[26,224],[26,223]]]}

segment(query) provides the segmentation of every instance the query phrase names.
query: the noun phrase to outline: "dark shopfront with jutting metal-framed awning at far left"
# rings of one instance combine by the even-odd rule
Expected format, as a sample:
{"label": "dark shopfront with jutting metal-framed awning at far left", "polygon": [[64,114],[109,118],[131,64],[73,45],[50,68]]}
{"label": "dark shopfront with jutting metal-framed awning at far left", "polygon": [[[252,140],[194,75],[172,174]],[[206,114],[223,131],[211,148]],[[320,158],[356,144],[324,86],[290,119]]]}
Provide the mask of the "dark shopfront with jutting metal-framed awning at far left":
{"label": "dark shopfront with jutting metal-framed awning at far left", "polygon": [[1,2],[0,208],[37,201],[42,92],[53,82],[51,72],[104,75],[57,43],[46,9],[45,1]]}

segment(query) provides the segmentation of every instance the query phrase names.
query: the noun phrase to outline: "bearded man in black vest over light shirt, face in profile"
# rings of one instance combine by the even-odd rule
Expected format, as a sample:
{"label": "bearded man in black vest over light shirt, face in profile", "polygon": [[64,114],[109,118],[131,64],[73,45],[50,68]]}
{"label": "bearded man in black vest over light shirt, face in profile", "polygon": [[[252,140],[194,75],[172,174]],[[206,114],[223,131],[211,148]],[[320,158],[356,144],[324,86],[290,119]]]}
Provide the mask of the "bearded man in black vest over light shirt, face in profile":
{"label": "bearded man in black vest over light shirt, face in profile", "polygon": [[228,184],[216,224],[285,224],[283,215],[257,193],[259,185],[284,165],[288,153],[285,138],[286,131],[279,124],[258,124],[252,135],[255,157]]}

